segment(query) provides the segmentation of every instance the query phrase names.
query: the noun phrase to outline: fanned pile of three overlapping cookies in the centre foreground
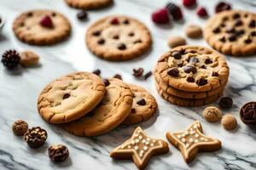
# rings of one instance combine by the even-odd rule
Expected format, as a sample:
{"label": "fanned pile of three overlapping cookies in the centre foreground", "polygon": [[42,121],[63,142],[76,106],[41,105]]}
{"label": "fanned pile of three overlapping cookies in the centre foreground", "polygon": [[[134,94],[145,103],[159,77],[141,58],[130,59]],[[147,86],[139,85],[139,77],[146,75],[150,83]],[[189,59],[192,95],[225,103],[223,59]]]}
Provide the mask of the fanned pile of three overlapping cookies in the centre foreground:
{"label": "fanned pile of three overlapping cookies in the centre foreground", "polygon": [[117,78],[102,80],[90,72],[75,72],[50,82],[39,95],[38,112],[78,136],[108,133],[114,127],[143,122],[157,103],[144,88]]}

